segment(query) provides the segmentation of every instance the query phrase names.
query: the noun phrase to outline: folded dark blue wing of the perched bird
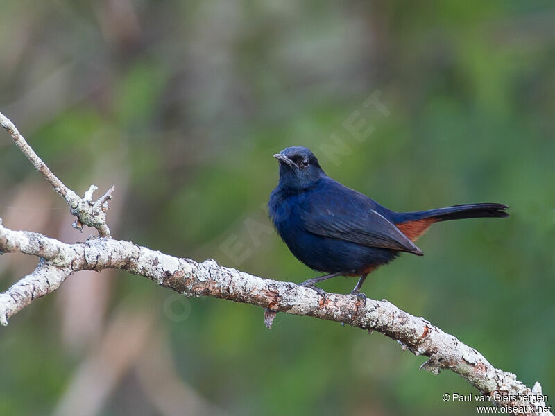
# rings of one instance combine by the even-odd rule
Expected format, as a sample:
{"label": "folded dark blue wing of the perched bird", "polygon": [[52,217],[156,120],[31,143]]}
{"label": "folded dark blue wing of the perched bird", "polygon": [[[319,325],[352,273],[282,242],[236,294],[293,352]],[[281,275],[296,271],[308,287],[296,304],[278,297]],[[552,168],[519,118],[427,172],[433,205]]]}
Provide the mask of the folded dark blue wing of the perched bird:
{"label": "folded dark blue wing of the perched bird", "polygon": [[376,202],[339,182],[307,193],[299,201],[299,216],[307,231],[368,247],[422,251],[390,220],[375,211]]}

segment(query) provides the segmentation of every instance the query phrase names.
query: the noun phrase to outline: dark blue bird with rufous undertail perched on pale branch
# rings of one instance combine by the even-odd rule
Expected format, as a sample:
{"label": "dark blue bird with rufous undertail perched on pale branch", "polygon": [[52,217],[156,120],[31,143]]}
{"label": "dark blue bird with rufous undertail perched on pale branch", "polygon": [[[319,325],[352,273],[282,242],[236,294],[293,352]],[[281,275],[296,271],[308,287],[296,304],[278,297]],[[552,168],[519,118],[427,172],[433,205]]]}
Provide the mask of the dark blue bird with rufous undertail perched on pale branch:
{"label": "dark blue bird with rufous undertail perched on pale branch", "polygon": [[288,147],[273,157],[280,180],[270,195],[268,217],[299,261],[325,273],[300,284],[324,300],[325,291],[316,284],[355,276],[359,280],[350,294],[366,303],[361,288],[368,274],[402,252],[422,256],[415,241],[434,223],[509,216],[509,207],[497,203],[396,212],[327,176],[308,148]]}

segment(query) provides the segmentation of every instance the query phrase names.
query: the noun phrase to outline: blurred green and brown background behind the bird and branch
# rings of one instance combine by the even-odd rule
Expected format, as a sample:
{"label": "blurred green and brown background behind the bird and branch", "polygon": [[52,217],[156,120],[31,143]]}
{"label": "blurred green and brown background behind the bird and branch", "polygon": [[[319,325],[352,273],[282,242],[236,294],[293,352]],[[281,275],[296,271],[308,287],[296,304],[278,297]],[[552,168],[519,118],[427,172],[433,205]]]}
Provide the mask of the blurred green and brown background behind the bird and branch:
{"label": "blurred green and brown background behind the bird and branch", "polygon": [[[266,217],[272,155],[397,210],[504,202],[443,223],[367,281],[555,395],[552,1],[0,4],[0,109],[72,189],[116,185],[112,234],[302,281]],[[368,98],[382,106],[364,105]],[[353,128],[355,125],[356,128]],[[370,130],[368,130],[370,129]],[[358,132],[358,134],[356,133]],[[0,132],[6,227],[83,241]],[[36,259],[0,258],[0,290]],[[355,278],[322,286],[347,293]],[[472,415],[476,393],[392,340],[81,272],[0,329],[1,415]]]}

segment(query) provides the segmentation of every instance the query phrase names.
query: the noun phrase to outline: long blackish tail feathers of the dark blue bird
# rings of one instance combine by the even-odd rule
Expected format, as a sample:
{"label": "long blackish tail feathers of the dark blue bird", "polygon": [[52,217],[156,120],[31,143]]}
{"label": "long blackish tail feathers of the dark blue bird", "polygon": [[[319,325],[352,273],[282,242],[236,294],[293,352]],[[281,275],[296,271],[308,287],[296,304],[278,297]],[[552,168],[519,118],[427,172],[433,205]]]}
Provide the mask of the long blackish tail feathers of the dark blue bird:
{"label": "long blackish tail feathers of the dark blue bird", "polygon": [[466,204],[455,205],[454,207],[429,209],[428,211],[405,212],[400,215],[406,218],[406,220],[423,220],[425,218],[433,218],[436,221],[482,217],[505,218],[509,216],[509,213],[505,211],[507,208],[509,207],[504,204]]}

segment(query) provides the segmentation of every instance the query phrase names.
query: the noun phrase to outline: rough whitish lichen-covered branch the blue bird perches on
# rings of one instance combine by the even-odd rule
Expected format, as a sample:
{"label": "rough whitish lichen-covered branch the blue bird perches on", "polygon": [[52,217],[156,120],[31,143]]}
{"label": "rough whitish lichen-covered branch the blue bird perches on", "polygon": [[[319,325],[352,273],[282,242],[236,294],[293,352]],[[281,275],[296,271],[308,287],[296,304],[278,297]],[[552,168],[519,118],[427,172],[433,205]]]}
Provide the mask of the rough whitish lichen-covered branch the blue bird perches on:
{"label": "rough whitish lichen-covered branch the blue bird perches on", "polygon": [[[9,120],[9,123],[6,122],[6,117],[2,117],[0,123],[18,144],[21,135]],[[35,167],[38,166],[37,169],[60,195],[66,200],[67,195],[76,196],[51,174],[26,143],[19,148],[26,149],[28,155],[31,155],[28,156],[31,162],[35,161]],[[76,198],[89,204],[91,195],[89,189],[85,198]],[[103,205],[109,198],[103,196],[97,202],[104,199]],[[68,204],[71,206],[69,201]],[[85,207],[85,210],[89,210],[89,207]],[[81,220],[79,216],[78,220]],[[387,300],[368,299],[366,304],[362,304],[354,295],[334,293],[328,294],[326,300],[323,300],[310,288],[288,281],[262,279],[218,266],[214,260],[197,263],[191,259],[173,257],[130,241],[110,239],[109,232],[106,234],[101,229],[99,234],[105,236],[83,243],[67,244],[43,234],[8,229],[0,220],[1,252],[20,252],[40,257],[34,272],[17,281],[5,293],[0,293],[0,323],[8,324],[8,318],[31,304],[35,298],[55,291],[74,272],[109,268],[126,270],[186,297],[211,296],[262,306],[270,311],[270,315],[277,312],[305,315],[342,322],[368,332],[378,331],[397,340],[403,349],[408,349],[416,356],[427,356],[429,359],[422,364],[421,369],[434,374],[441,370],[459,374],[482,395],[490,397],[493,404],[504,407],[506,413],[552,416],[545,404],[547,397],[543,396],[539,383],[532,389],[528,388],[516,379],[515,374],[493,367],[476,349],[461,343],[455,336],[443,332],[424,318],[402,311]]]}

